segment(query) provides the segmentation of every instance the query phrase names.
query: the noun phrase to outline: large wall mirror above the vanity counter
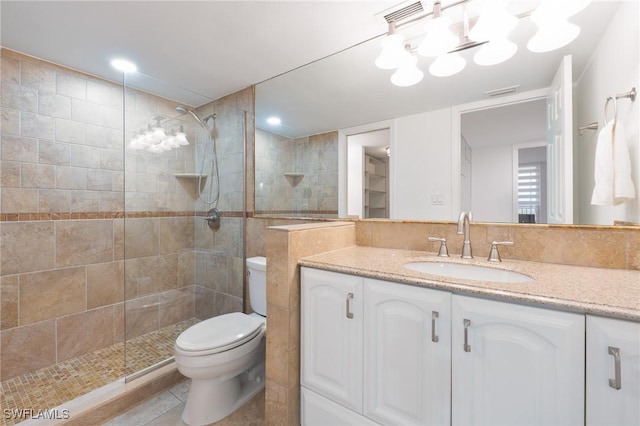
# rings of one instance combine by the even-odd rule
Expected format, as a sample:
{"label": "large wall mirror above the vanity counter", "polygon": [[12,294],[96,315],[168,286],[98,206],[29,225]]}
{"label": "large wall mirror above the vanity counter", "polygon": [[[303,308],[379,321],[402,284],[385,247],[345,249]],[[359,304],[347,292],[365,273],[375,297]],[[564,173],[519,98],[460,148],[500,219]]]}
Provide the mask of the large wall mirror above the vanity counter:
{"label": "large wall mirror above the vanity counter", "polygon": [[[538,2],[511,3],[533,9]],[[620,205],[591,204],[607,98],[640,86],[638,2],[596,0],[571,21],[581,28],[576,40],[532,53],[526,44],[536,27],[522,17],[510,34],[518,45],[510,60],[480,66],[476,48],[464,50],[466,68],[450,77],[430,75],[433,59],[419,57],[425,76],[410,87],[375,67],[382,35],[258,84],[256,214],[456,220],[471,210],[485,222],[640,223],[640,191]],[[507,93],[491,96],[496,91]],[[549,133],[549,102],[560,91],[570,107],[564,148]],[[638,104],[621,98],[616,111],[640,190]],[[607,113],[613,118],[612,105]],[[268,123],[273,116],[278,126]],[[388,142],[373,138],[368,147],[359,137],[366,134]],[[360,157],[350,154],[350,141],[358,141]],[[367,196],[349,195],[349,170],[364,181],[372,150],[386,161],[386,194],[384,209],[366,216]],[[536,194],[519,192],[523,176],[537,182]]]}

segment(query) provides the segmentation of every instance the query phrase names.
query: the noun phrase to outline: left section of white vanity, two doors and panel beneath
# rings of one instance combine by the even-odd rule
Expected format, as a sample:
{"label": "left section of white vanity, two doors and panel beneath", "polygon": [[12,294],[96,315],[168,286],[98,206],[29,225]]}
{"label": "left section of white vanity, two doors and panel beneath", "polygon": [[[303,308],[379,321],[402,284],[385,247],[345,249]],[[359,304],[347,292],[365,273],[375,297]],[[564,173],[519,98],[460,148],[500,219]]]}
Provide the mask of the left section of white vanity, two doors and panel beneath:
{"label": "left section of white vanity, two doors and panel beneath", "polygon": [[450,293],[311,268],[301,291],[302,424],[449,424]]}

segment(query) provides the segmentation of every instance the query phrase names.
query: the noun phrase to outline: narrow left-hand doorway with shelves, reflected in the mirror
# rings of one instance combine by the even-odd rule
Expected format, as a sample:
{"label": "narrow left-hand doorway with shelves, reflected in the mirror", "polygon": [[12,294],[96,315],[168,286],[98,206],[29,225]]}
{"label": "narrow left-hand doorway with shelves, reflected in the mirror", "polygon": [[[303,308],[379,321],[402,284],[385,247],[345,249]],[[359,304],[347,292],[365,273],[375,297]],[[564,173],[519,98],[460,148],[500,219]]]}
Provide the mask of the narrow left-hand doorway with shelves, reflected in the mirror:
{"label": "narrow left-hand doorway with shelves, reflected in the mirror", "polygon": [[347,136],[347,214],[389,217],[390,130]]}

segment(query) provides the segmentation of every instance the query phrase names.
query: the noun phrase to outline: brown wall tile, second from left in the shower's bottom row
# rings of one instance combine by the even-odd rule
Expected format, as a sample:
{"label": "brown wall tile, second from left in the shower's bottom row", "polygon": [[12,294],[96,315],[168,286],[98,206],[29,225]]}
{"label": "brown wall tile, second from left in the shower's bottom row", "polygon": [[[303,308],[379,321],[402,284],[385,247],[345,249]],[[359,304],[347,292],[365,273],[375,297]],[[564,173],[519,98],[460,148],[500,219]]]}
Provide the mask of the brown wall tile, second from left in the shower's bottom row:
{"label": "brown wall tile, second from left in the shower's bottom row", "polygon": [[57,362],[112,345],[115,319],[113,306],[58,318]]}

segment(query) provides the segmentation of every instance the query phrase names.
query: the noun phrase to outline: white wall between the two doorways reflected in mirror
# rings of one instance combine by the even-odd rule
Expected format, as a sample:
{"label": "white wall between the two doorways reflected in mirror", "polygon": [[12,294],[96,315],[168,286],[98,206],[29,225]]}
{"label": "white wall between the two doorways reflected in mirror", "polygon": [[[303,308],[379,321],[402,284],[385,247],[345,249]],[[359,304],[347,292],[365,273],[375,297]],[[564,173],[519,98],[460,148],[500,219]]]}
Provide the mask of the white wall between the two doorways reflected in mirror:
{"label": "white wall between the two doorways reflected in mirror", "polygon": [[401,117],[393,126],[391,218],[452,220],[451,109]]}

